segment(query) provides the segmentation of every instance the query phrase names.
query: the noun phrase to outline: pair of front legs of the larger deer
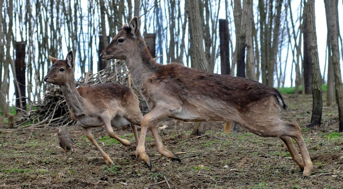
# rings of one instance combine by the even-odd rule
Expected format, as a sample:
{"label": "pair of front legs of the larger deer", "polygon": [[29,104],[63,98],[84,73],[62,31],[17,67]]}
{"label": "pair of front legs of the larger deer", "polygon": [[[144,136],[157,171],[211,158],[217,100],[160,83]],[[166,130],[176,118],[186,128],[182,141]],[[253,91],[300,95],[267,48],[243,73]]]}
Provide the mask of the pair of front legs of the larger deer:
{"label": "pair of front legs of the larger deer", "polygon": [[161,155],[169,157],[170,159],[180,161],[179,157],[175,153],[170,152],[164,147],[162,140],[159,137],[157,130],[155,128],[155,124],[158,121],[160,121],[161,119],[165,117],[168,117],[169,115],[170,115],[170,112],[163,105],[157,105],[151,112],[147,113],[142,119],[141,135],[139,138],[136,154],[140,157],[141,160],[144,161],[144,163],[147,164],[150,170],[151,170],[151,161],[150,161],[149,156],[145,153],[145,147],[144,147],[147,128],[151,130],[154,136],[156,146],[158,148],[158,152]]}

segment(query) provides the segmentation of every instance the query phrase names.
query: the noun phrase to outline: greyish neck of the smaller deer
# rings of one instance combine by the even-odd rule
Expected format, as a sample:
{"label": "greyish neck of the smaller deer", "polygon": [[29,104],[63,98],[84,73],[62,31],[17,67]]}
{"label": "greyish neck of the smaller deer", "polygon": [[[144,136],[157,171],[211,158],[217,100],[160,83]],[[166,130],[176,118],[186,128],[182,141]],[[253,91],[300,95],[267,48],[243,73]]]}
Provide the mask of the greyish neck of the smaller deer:
{"label": "greyish neck of the smaller deer", "polygon": [[60,86],[68,109],[75,115],[83,114],[83,98],[76,89],[74,80]]}

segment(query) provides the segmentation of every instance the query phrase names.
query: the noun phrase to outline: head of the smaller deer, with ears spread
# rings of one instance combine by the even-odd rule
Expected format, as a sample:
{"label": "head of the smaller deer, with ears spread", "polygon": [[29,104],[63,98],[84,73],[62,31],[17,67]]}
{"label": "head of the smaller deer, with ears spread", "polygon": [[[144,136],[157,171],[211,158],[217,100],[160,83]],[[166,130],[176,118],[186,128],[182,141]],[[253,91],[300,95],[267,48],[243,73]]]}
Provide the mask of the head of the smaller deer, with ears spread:
{"label": "head of the smaller deer, with ears spread", "polygon": [[74,55],[73,51],[69,51],[66,60],[58,60],[49,56],[52,66],[48,74],[44,77],[46,83],[54,85],[64,85],[70,80],[74,80]]}

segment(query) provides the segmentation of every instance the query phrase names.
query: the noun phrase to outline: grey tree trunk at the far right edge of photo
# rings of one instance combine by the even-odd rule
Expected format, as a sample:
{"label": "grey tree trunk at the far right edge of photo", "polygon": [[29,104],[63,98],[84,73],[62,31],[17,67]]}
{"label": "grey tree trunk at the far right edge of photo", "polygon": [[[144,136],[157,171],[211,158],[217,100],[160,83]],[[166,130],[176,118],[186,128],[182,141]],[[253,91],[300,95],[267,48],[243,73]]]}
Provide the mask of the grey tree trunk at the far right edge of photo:
{"label": "grey tree trunk at the far right edge of photo", "polygon": [[338,103],[339,132],[343,131],[343,84],[340,68],[340,55],[338,49],[338,29],[337,29],[337,5],[336,0],[330,0],[330,27],[331,27],[331,51],[332,63],[335,75],[336,101]]}

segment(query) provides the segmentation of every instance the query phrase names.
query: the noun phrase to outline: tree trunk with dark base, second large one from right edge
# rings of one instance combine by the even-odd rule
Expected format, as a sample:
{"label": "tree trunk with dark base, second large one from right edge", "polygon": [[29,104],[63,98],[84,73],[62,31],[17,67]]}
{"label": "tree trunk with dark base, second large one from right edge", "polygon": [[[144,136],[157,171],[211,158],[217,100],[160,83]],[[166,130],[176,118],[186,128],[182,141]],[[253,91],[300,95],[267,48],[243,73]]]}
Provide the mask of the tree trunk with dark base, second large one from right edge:
{"label": "tree trunk with dark base, second large one from right edge", "polygon": [[310,60],[311,60],[311,71],[312,71],[312,98],[313,98],[311,124],[308,125],[308,127],[313,127],[313,126],[321,124],[323,102],[322,102],[321,76],[320,76],[318,48],[317,48],[315,1],[308,0],[306,6],[307,6],[306,8],[307,24],[308,24]]}

